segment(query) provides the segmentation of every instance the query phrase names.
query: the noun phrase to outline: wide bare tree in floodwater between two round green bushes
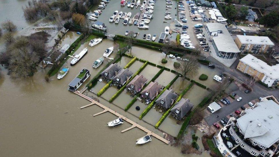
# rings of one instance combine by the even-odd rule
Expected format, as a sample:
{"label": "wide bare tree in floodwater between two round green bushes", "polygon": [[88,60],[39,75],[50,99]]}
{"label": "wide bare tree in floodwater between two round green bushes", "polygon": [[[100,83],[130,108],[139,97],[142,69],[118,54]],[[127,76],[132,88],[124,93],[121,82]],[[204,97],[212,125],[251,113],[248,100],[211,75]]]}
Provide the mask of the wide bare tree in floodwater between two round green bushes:
{"label": "wide bare tree in floodwater between two round green bushes", "polygon": [[180,60],[179,71],[183,75],[183,79],[188,75],[193,75],[198,72],[200,65],[196,56],[187,55],[185,58]]}

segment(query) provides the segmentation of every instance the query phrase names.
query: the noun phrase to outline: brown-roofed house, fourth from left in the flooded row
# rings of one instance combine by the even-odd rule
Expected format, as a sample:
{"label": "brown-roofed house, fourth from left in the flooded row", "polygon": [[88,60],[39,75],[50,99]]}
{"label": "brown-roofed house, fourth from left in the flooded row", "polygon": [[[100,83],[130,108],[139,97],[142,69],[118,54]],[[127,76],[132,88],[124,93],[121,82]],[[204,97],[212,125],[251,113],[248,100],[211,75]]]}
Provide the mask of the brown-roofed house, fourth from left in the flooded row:
{"label": "brown-roofed house, fourth from left in the flooded row", "polygon": [[159,85],[158,82],[150,82],[140,94],[144,99],[153,100],[159,94],[162,87],[163,86]]}

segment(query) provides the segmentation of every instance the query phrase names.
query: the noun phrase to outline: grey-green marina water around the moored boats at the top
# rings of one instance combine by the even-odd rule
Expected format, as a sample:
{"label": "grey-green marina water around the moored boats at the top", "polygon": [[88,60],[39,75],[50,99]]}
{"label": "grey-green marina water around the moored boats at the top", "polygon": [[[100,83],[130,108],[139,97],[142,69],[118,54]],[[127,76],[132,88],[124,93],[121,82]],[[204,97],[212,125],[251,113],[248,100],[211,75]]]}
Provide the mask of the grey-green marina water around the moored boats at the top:
{"label": "grey-green marina water around the moored boats at the top", "polygon": [[[131,12],[133,17],[136,13],[140,13],[140,6],[137,8],[128,8],[127,5],[125,7],[120,6],[120,1],[110,1],[107,5],[107,7],[103,10],[102,14],[98,17],[98,21],[105,23],[107,26],[107,32],[109,34],[120,34],[125,35],[125,31],[134,31],[139,32],[139,36],[137,38],[142,39],[142,36],[144,34],[156,34],[158,38],[156,41],[159,40],[159,36],[161,32],[164,32],[164,29],[166,26],[170,26],[170,23],[173,21],[172,19],[166,20],[165,17],[165,11],[171,12],[172,18],[176,18],[176,3],[173,2],[172,8],[170,10],[165,10],[166,8],[166,1],[156,1],[154,5],[154,12],[153,12],[153,19],[148,24],[149,29],[139,29],[135,25],[123,25],[123,19],[120,19],[119,23],[109,22],[109,17],[113,15],[113,12],[115,10],[118,10],[119,12],[122,11],[123,13]],[[91,8],[91,12],[87,13],[87,18],[89,18],[90,14],[93,13],[94,10],[97,9],[97,6]],[[99,10],[99,9],[97,9]],[[164,23],[163,21],[168,21],[169,23]],[[169,35],[170,36],[170,35]],[[174,33],[173,37],[171,39],[175,40],[176,33]]]}

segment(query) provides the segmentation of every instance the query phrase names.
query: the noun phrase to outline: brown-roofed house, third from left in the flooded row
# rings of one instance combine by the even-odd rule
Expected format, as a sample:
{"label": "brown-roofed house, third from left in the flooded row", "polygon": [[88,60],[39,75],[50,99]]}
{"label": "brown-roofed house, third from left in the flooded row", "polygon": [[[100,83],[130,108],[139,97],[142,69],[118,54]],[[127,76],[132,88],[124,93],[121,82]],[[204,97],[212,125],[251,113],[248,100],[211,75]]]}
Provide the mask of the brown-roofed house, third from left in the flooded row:
{"label": "brown-roofed house, third from left in the flooded row", "polygon": [[136,75],[133,80],[127,84],[127,89],[132,93],[138,93],[146,84],[147,79],[143,75]]}

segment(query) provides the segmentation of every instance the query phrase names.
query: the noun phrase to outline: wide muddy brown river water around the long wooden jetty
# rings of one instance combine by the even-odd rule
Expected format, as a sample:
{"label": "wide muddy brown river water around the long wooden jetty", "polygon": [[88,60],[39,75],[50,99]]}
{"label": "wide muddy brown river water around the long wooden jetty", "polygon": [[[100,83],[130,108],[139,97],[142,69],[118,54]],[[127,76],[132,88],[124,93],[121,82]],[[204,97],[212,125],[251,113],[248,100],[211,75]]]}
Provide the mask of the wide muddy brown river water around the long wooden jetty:
{"label": "wide muddy brown river water around the long wooden jetty", "polygon": [[[146,145],[137,146],[135,140],[145,133],[136,128],[121,133],[121,130],[130,126],[127,123],[108,128],[107,122],[117,117],[110,113],[93,117],[93,114],[102,111],[98,106],[79,109],[89,102],[69,92],[68,84],[84,67],[91,73],[89,79],[93,78],[104,66],[97,70],[93,69],[91,67],[93,61],[112,45],[113,41],[107,39],[94,47],[89,47],[88,42],[85,42],[77,53],[84,47],[88,47],[88,53],[74,66],[69,66],[70,58],[64,65],[69,66],[70,71],[61,80],[53,76],[50,82],[45,81],[44,76],[50,67],[38,68],[33,77],[23,79],[11,79],[6,75],[7,70],[1,67],[1,156],[185,156],[180,153],[179,147],[166,145],[156,138],[152,138],[152,142]],[[110,57],[113,58],[115,55],[116,53],[113,53]],[[123,58],[121,64],[126,65],[129,60],[127,57]],[[134,69],[141,66],[140,63],[135,63],[137,66]],[[154,73],[156,74],[156,71]],[[89,82],[89,79],[81,88]],[[107,92],[113,88],[115,87],[110,87]],[[95,96],[91,92],[85,94]],[[106,95],[106,92],[104,94]],[[126,93],[122,92],[122,94]],[[139,120],[137,116],[124,112],[118,106],[109,104],[100,97],[98,99],[102,104],[163,136],[162,132]],[[117,99],[113,103],[117,103]],[[120,104],[119,102],[117,104]]]}

